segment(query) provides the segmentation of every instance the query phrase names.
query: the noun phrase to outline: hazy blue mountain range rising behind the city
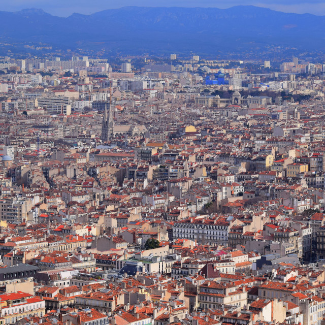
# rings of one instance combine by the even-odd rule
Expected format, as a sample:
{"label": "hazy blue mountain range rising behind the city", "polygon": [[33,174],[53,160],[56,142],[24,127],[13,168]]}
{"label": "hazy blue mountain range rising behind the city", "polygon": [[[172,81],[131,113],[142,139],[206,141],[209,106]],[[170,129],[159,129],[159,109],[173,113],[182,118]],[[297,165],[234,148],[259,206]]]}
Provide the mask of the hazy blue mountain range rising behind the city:
{"label": "hazy blue mountain range rising behind the city", "polygon": [[0,42],[48,43],[112,53],[241,53],[281,47],[325,49],[325,16],[254,6],[229,9],[123,7],[52,16],[40,9],[0,11]]}

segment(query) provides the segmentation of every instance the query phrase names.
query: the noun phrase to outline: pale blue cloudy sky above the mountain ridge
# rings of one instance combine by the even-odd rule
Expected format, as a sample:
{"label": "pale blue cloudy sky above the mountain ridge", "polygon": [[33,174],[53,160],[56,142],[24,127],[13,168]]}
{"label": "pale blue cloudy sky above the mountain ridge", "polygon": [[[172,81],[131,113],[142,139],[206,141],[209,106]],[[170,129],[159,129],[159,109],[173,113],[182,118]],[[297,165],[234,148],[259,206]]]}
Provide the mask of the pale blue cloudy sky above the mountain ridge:
{"label": "pale blue cloudy sky above the mountain ridge", "polygon": [[0,10],[4,11],[40,8],[52,15],[62,17],[67,17],[74,12],[91,14],[124,6],[229,8],[237,5],[254,5],[283,12],[325,15],[323,0],[287,0],[286,2],[283,0],[1,0],[0,3]]}

